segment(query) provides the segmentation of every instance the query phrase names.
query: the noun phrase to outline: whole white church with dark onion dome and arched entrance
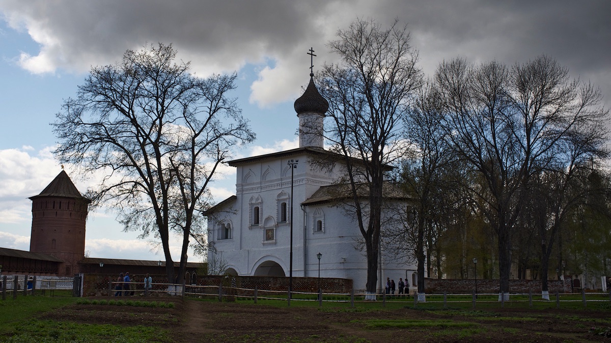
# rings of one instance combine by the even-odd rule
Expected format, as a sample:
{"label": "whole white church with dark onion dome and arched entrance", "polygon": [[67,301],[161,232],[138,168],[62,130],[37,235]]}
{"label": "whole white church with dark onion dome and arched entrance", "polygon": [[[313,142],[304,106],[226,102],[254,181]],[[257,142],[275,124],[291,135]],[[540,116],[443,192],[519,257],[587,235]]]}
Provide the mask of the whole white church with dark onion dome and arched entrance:
{"label": "whole white church with dark onion dome and arched entrance", "polygon": [[[323,147],[328,107],[310,73],[309,85],[295,101],[299,148],[229,162],[237,168],[236,195],[206,212],[208,242],[216,250],[208,261],[222,261],[225,273],[288,277],[292,229],[293,276],[318,276],[320,262],[321,278],[352,279],[356,292],[365,291],[367,257],[357,250],[362,236],[356,220],[334,206],[336,199],[326,192],[342,175],[342,165],[320,168],[317,162],[337,157]],[[386,258],[379,265],[378,291],[387,277],[395,284],[404,278],[416,289],[415,265]]]}

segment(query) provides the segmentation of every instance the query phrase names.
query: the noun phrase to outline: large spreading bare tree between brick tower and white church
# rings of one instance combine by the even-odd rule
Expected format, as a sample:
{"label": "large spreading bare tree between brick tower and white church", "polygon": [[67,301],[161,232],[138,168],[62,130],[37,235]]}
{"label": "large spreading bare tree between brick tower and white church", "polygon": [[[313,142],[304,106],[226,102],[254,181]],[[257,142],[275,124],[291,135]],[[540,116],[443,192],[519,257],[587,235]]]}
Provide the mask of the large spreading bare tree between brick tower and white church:
{"label": "large spreading bare tree between brick tower and white church", "polygon": [[[189,236],[202,229],[201,212],[210,206],[208,182],[233,148],[254,140],[227,97],[236,74],[197,78],[175,57],[159,43],[93,67],[53,123],[60,161],[83,175],[104,173],[88,193],[94,204],[117,211],[125,231],[161,240],[169,282],[185,275]],[[183,237],[176,277],[172,231]]]}

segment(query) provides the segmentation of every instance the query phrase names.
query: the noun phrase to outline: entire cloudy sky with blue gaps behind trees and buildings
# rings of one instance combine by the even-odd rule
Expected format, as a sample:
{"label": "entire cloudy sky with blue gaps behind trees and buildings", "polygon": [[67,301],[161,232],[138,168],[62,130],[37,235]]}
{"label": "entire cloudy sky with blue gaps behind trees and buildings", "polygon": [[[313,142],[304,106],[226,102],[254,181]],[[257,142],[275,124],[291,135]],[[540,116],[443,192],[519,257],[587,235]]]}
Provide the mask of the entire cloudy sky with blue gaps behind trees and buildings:
{"label": "entire cloudy sky with blue gaps behind trees and buildings", "polygon": [[[91,66],[126,49],[172,43],[199,76],[237,71],[240,101],[257,141],[235,157],[298,146],[293,101],[315,70],[334,62],[326,42],[356,18],[408,23],[430,76],[444,59],[511,65],[541,54],[598,85],[611,106],[611,1],[0,1],[0,247],[29,250],[31,201],[60,172],[49,123]],[[95,178],[68,175],[84,192]],[[235,170],[214,184],[235,193]],[[112,212],[90,214],[86,250],[103,258],[159,259],[150,239],[123,233]],[[178,240],[174,251],[178,251]],[[178,253],[173,256],[177,258]],[[200,258],[189,258],[189,261]]]}

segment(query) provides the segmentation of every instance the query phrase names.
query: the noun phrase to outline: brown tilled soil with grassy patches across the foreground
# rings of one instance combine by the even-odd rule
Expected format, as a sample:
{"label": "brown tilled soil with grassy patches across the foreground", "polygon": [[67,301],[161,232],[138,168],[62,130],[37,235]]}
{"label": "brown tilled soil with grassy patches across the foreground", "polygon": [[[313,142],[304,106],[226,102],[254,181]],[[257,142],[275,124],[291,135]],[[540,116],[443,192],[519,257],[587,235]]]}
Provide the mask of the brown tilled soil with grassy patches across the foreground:
{"label": "brown tilled soil with grassy patches across the foreground", "polygon": [[[142,300],[139,299],[139,300]],[[158,301],[159,298],[151,299]],[[176,342],[611,342],[609,311],[424,311],[174,301],[174,308],[72,305],[42,318],[145,325]]]}

